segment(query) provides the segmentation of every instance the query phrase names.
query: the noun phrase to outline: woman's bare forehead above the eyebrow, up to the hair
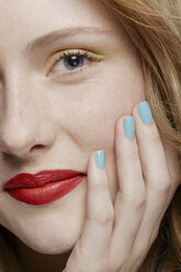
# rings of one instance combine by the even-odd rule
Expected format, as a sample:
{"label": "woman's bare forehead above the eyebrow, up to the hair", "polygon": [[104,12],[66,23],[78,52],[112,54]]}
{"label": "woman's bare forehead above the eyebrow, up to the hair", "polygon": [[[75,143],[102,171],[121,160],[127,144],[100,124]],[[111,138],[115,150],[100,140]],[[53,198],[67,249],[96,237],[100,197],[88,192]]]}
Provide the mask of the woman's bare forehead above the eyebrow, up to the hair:
{"label": "woman's bare forehead above the eyebrow, up to the hair", "polygon": [[99,0],[0,0],[0,59],[25,50],[37,37],[71,27],[102,27],[113,41],[121,27]]}

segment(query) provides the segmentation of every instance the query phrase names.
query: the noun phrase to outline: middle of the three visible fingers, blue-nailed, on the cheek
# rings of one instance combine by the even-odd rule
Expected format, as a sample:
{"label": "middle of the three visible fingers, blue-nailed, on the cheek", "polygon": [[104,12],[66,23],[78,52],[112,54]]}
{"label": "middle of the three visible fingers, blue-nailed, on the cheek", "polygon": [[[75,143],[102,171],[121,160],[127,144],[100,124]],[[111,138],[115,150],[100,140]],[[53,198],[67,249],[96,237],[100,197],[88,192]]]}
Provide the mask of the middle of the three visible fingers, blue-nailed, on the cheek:
{"label": "middle of the three visible fingers, blue-nailed, on the cheek", "polygon": [[112,263],[117,263],[121,256],[125,259],[129,254],[145,209],[145,183],[134,129],[132,116],[120,118],[115,129],[118,192],[111,245]]}

